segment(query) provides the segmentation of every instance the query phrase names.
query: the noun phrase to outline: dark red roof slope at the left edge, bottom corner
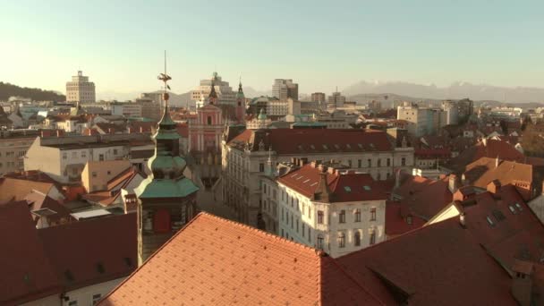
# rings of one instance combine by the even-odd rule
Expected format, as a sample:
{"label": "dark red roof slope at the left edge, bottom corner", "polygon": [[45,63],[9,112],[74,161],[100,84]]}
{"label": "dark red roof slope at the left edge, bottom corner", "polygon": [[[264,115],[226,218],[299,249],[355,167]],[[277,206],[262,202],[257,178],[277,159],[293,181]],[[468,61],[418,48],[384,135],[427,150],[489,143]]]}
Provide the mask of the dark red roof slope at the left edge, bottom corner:
{"label": "dark red roof slope at the left edge, bottom corner", "polygon": [[[26,201],[0,205],[0,305],[29,302],[60,293]],[[65,246],[62,251],[67,251]]]}

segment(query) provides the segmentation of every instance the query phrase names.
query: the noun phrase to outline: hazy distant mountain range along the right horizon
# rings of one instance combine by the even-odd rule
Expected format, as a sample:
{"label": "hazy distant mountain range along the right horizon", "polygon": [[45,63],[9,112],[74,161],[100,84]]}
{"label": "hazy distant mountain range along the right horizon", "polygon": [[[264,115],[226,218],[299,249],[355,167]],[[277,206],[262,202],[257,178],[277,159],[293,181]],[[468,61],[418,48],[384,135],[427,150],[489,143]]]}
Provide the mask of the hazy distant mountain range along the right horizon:
{"label": "hazy distant mountain range along the right horizon", "polygon": [[428,99],[494,100],[506,103],[543,102],[544,89],[530,87],[497,87],[476,85],[468,82],[455,82],[448,87],[439,88],[434,84],[421,85],[403,81],[360,81],[342,90],[352,97],[358,94],[394,93],[399,96],[424,97]]}

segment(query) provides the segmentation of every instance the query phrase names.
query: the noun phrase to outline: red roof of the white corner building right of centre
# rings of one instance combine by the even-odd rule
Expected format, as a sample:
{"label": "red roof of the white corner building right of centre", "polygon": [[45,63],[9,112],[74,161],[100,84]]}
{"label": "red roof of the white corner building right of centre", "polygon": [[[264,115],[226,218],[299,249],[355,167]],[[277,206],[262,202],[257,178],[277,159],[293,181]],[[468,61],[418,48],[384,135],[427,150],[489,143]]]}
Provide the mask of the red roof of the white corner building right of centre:
{"label": "red roof of the white corner building right of centre", "polygon": [[278,179],[279,183],[312,198],[319,188],[321,173],[327,174],[327,185],[333,197],[331,202],[351,202],[360,200],[386,200],[387,193],[383,184],[372,179],[370,174],[343,173],[335,170],[330,173],[327,168],[320,170],[316,162],[306,164]]}

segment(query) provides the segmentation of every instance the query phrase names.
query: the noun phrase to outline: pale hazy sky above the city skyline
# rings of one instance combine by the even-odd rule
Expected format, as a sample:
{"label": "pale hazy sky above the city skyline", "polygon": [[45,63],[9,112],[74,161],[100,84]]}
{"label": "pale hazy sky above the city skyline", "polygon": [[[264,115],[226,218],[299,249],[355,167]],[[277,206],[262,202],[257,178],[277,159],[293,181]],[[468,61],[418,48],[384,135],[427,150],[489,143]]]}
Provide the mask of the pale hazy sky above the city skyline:
{"label": "pale hazy sky above the city skyline", "polygon": [[301,92],[356,81],[544,87],[544,1],[0,2],[0,81],[64,92],[81,69],[98,92],[174,92],[208,78]]}

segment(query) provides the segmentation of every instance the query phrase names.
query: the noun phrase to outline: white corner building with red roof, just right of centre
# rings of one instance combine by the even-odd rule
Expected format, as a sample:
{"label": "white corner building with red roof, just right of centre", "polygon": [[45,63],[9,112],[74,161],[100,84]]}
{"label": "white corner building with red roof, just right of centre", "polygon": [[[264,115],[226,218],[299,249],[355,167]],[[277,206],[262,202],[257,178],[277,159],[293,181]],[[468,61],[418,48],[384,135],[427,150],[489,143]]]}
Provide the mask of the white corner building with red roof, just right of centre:
{"label": "white corner building with red roof, just right of centre", "polygon": [[[387,194],[369,174],[313,162],[281,176],[276,188],[276,234],[286,239],[326,251],[333,258],[386,239]],[[268,189],[274,191],[263,182],[263,193]],[[268,208],[266,198],[262,204]]]}

